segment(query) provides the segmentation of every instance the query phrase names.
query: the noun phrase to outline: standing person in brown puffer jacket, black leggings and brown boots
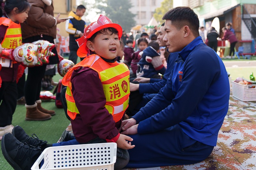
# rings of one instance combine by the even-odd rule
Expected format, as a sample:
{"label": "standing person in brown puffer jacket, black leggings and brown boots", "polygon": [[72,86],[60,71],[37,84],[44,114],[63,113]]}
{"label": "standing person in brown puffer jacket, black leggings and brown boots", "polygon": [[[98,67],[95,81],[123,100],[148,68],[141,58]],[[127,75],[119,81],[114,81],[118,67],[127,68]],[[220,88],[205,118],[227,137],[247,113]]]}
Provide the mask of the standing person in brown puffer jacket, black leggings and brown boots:
{"label": "standing person in brown puffer jacket, black leggings and brown boots", "polygon": [[[56,25],[65,20],[60,20],[60,14],[55,18],[52,0],[28,0],[31,5],[27,20],[21,24],[22,42],[31,43],[37,40],[46,40],[54,43],[56,38]],[[59,62],[56,48],[52,49],[55,56],[49,57],[49,64]],[[44,121],[55,115],[54,110],[47,110],[41,106],[39,98],[41,80],[44,77],[46,64],[28,67],[28,76],[24,87],[27,108],[26,120]]]}

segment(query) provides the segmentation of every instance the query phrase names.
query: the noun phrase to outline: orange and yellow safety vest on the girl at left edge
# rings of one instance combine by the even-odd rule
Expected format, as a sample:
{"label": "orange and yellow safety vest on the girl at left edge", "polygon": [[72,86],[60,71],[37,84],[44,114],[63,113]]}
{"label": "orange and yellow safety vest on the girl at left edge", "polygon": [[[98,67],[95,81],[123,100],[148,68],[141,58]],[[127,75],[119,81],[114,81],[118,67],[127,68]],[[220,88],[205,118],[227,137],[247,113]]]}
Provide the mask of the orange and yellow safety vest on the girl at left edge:
{"label": "orange and yellow safety vest on the girl at left edge", "polygon": [[[4,35],[4,40],[1,43],[2,48],[15,49],[22,45],[20,24],[12,22],[9,18],[1,17],[0,25],[8,26]],[[13,60],[13,63],[17,62]]]}

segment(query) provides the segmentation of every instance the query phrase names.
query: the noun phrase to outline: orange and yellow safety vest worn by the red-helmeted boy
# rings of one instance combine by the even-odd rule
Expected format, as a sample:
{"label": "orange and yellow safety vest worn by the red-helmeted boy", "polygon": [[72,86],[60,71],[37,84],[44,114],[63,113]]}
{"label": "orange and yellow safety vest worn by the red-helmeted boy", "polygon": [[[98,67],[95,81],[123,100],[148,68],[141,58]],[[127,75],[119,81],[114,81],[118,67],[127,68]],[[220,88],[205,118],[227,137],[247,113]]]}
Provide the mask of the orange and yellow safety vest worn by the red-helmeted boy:
{"label": "orange and yellow safety vest worn by the red-helmeted boy", "polygon": [[84,60],[77,63],[74,67],[68,70],[67,74],[62,79],[62,84],[67,86],[66,100],[68,116],[74,120],[76,114],[79,114],[72,95],[70,78],[73,70],[76,70],[77,67],[80,66],[89,67],[98,72],[106,97],[105,107],[108,112],[113,115],[115,122],[121,120],[129,102],[130,71],[124,63],[108,63],[95,54],[89,55],[84,58]]}

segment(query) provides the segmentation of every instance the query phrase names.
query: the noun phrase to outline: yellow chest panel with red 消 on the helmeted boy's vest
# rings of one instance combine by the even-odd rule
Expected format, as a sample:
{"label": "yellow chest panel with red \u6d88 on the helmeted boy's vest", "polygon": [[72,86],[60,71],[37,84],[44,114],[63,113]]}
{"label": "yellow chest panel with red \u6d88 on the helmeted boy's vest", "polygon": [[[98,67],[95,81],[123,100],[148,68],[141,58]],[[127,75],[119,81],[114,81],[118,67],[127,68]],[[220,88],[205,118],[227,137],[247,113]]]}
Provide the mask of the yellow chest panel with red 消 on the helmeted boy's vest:
{"label": "yellow chest panel with red \u6d88 on the helmeted boy's vest", "polygon": [[[130,75],[111,84],[103,85],[106,101],[115,101],[130,93],[129,77]],[[122,85],[122,83],[124,83],[124,85]]]}

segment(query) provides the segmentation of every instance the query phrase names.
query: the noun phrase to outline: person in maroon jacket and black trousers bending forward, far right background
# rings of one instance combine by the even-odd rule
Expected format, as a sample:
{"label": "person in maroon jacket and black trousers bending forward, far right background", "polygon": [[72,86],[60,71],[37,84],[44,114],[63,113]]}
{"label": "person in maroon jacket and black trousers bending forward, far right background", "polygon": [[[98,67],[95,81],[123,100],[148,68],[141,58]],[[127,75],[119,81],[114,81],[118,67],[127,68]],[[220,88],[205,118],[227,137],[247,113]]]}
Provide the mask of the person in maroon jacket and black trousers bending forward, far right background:
{"label": "person in maroon jacket and black trousers bending forward, far right background", "polygon": [[222,32],[224,34],[223,34],[223,37],[221,39],[222,40],[228,40],[230,42],[229,55],[226,56],[226,57],[227,58],[233,58],[234,55],[235,55],[235,46],[236,46],[236,43],[237,43],[236,35],[226,27],[222,28]]}

